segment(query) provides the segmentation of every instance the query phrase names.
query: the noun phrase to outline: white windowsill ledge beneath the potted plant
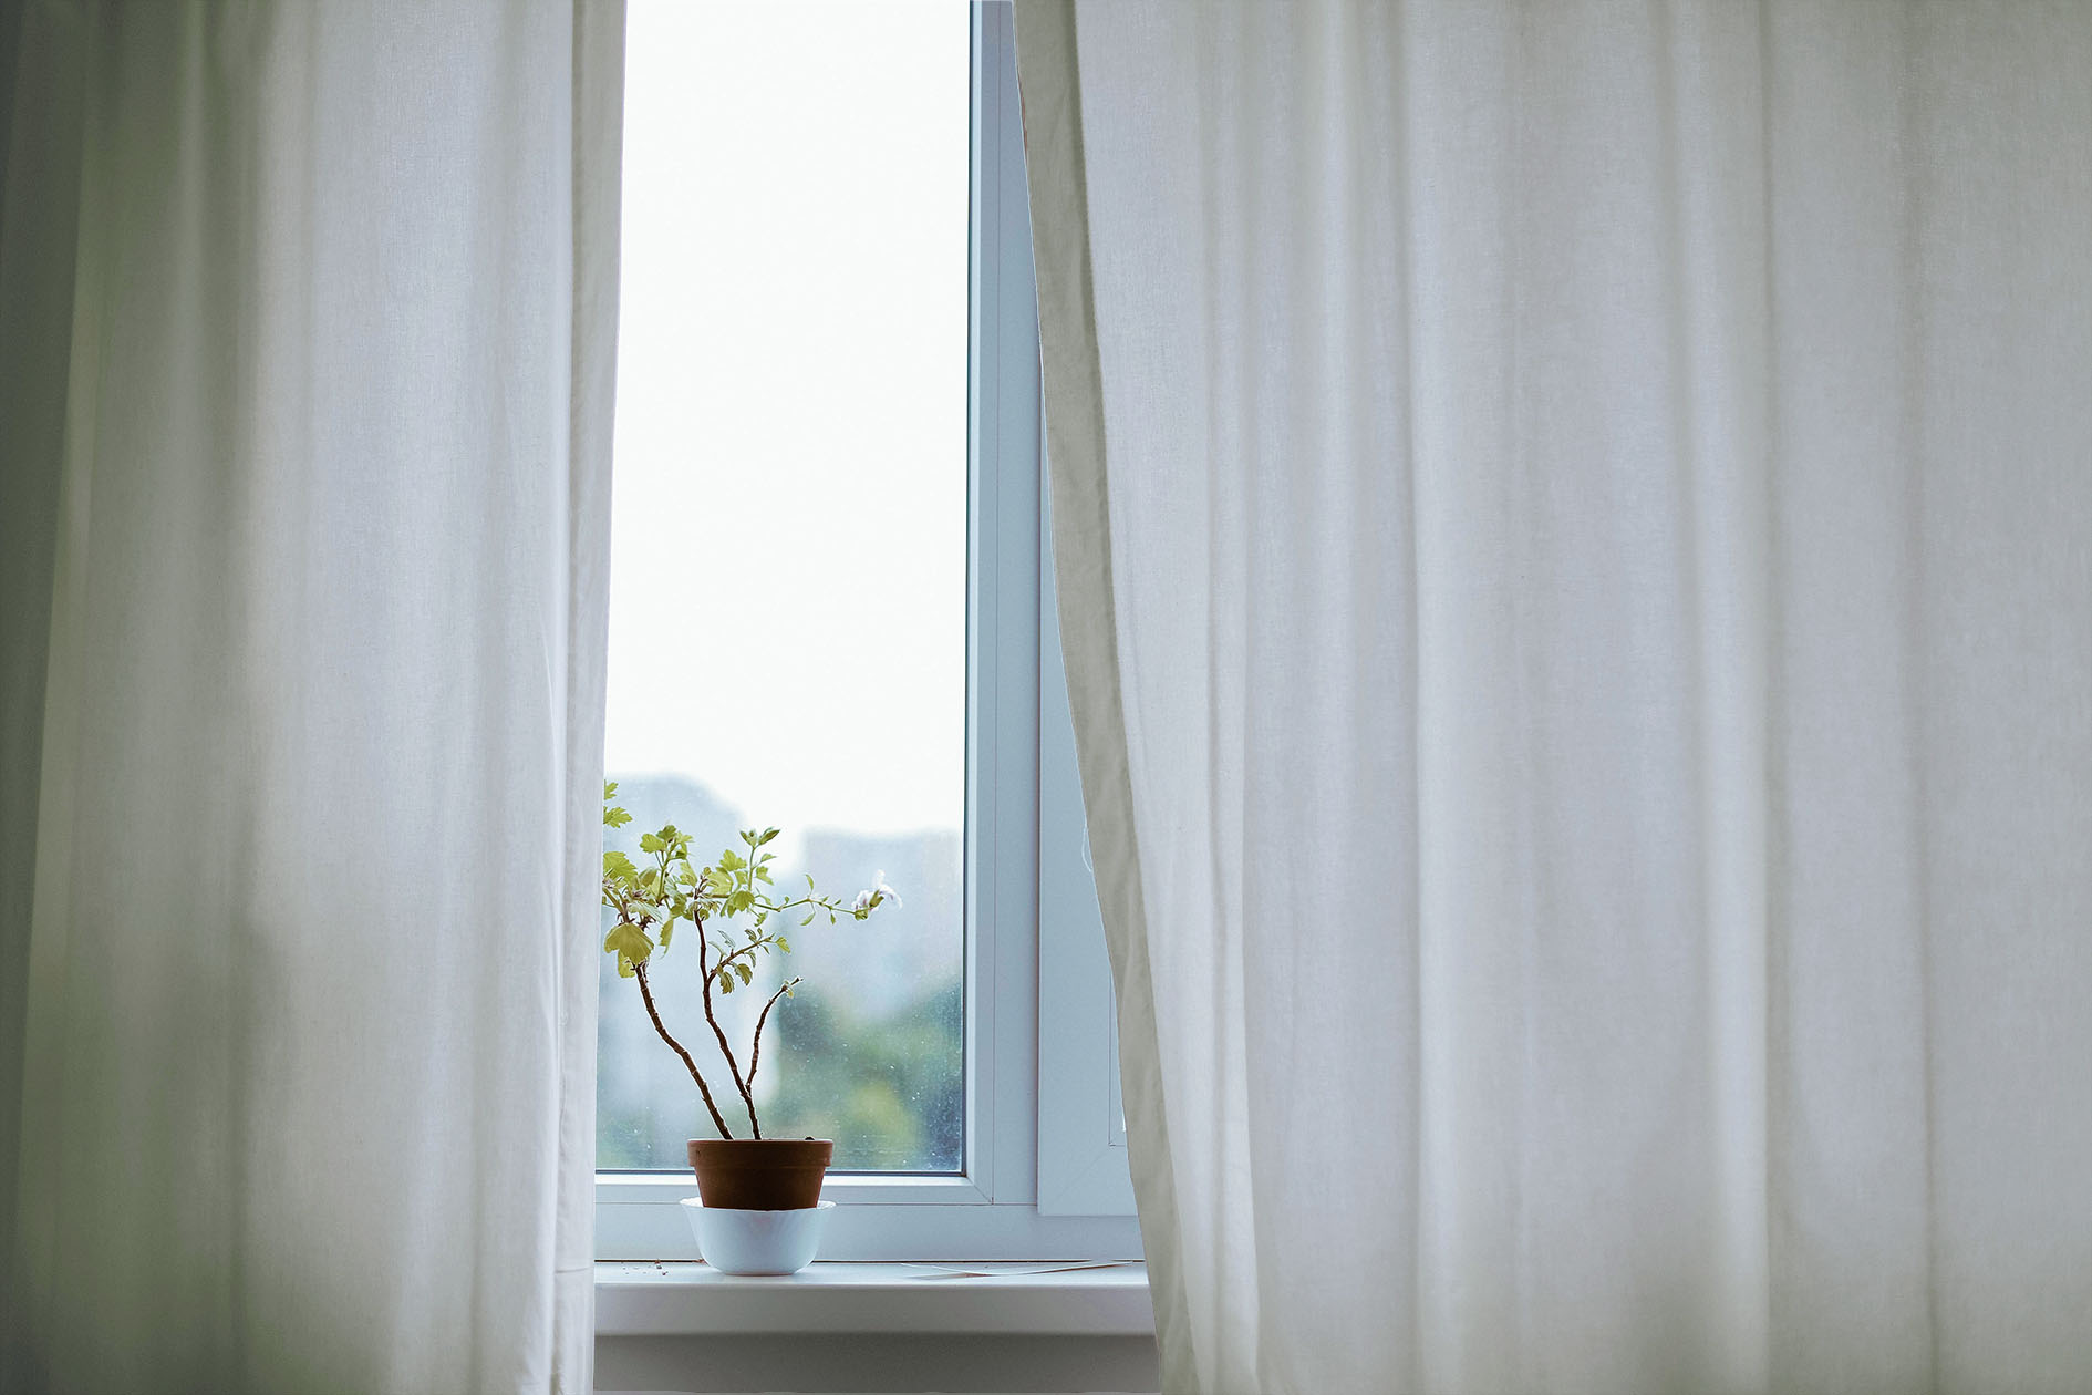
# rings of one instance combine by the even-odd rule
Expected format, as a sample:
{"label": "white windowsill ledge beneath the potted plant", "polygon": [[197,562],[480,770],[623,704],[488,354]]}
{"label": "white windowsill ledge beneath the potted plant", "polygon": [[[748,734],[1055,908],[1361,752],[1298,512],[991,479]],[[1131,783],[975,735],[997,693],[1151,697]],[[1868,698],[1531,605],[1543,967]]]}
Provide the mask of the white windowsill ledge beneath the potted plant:
{"label": "white windowsill ledge beneath the potted plant", "polygon": [[1149,1336],[1155,1309],[1144,1263],[816,1263],[787,1278],[596,1265],[596,1336],[713,1332]]}

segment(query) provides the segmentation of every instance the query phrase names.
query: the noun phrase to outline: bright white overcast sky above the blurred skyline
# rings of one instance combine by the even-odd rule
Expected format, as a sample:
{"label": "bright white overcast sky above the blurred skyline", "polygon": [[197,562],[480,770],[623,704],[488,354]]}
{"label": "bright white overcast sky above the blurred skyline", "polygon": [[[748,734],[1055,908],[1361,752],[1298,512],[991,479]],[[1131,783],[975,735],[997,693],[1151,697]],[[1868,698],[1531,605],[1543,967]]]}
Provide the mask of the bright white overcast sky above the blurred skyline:
{"label": "bright white overcast sky above the blurred skyline", "polygon": [[964,0],[632,0],[611,774],[960,824]]}

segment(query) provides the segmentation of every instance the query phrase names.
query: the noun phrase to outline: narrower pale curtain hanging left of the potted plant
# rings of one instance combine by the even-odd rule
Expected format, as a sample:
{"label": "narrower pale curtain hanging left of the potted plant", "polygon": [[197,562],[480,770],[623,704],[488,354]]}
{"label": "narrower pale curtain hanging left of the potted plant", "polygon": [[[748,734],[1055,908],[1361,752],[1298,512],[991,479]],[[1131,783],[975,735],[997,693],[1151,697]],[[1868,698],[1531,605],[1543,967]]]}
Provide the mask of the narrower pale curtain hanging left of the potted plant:
{"label": "narrower pale curtain hanging left of the potted plant", "polygon": [[0,1387],[586,1391],[621,6],[0,21]]}

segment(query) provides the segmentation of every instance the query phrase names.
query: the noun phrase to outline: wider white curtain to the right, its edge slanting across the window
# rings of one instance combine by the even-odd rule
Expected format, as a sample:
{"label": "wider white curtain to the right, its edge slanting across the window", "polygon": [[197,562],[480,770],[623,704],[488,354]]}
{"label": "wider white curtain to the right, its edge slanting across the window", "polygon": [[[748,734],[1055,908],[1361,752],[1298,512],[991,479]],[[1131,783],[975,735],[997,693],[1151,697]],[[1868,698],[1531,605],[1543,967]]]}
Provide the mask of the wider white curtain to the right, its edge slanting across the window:
{"label": "wider white curtain to the right, its edge slanting across the window", "polygon": [[2092,6],[1017,29],[1165,1389],[2088,1389]]}

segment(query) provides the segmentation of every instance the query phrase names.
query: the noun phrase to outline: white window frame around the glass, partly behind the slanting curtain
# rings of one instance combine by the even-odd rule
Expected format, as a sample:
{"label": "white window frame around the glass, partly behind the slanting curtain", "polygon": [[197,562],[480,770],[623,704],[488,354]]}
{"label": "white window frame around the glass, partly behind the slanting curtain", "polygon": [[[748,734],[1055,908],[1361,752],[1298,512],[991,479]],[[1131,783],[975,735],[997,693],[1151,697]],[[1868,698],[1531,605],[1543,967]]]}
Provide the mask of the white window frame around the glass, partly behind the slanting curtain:
{"label": "white window frame around the glass, partly behind the slanting curtain", "polygon": [[[1042,546],[1038,297],[1008,0],[973,6],[971,178],[964,1169],[833,1173],[822,1257],[1138,1259],[1111,970]],[[1054,1025],[1044,1039],[1042,1021]],[[695,1259],[678,1205],[695,1194],[690,1173],[598,1173],[596,1257]]]}

